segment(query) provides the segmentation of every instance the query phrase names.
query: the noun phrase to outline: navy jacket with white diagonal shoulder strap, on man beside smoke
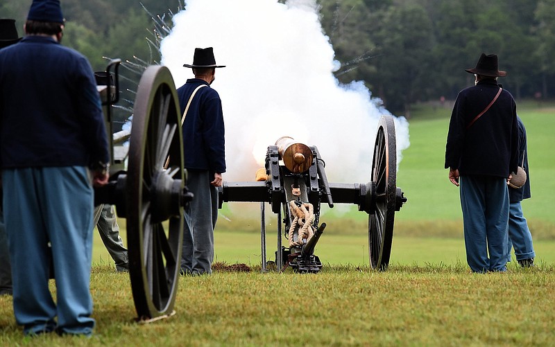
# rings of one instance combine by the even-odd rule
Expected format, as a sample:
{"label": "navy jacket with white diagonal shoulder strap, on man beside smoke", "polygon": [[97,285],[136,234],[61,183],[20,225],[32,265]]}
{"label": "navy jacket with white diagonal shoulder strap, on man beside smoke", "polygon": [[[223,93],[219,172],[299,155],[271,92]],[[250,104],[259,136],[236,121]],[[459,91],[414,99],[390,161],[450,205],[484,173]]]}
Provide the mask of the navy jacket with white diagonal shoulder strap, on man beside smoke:
{"label": "navy jacket with white diagonal shoulder strap, on man beside smoke", "polygon": [[200,84],[183,123],[183,159],[187,169],[225,172],[225,130],[221,99],[205,80],[191,78],[178,88],[181,115]]}

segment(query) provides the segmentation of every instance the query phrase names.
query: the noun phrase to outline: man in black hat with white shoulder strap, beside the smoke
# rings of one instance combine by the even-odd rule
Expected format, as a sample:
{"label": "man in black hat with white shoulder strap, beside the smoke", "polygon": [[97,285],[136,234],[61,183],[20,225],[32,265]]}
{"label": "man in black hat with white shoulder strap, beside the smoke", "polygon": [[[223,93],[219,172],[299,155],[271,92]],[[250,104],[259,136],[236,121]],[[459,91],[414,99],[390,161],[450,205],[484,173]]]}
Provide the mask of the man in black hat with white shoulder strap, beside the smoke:
{"label": "man in black hat with white shoulder strap, beside the smoke", "polygon": [[224,66],[216,65],[212,47],[196,48],[193,64],[183,66],[193,69],[195,75],[178,89],[187,187],[194,199],[185,209],[181,272],[211,274],[225,139],[220,96],[210,84],[216,68]]}

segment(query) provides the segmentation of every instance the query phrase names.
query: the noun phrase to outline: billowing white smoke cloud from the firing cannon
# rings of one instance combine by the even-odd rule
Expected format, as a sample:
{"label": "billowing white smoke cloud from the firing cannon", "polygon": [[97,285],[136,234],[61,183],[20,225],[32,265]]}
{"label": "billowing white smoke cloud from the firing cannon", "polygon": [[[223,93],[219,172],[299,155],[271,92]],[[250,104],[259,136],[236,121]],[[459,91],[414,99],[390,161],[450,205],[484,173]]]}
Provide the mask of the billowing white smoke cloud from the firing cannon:
{"label": "billowing white smoke cloud from the firing cannon", "polygon": [[[330,182],[369,180],[377,123],[389,112],[363,82],[336,80],[314,0],[187,0],[160,46],[176,87],[193,77],[182,65],[194,48],[210,46],[226,65],[212,83],[225,118],[225,181],[253,181],[257,159],[281,136],[316,145]],[[409,127],[402,117],[395,127],[399,162]]]}

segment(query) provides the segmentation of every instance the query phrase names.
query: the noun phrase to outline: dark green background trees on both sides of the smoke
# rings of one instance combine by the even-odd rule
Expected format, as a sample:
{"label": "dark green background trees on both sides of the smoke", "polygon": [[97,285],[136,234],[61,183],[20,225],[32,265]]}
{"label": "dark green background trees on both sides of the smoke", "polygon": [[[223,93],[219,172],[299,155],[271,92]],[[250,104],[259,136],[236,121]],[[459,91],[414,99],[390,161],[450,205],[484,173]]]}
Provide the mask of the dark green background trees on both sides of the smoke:
{"label": "dark green background trees on both sides of the smoke", "polygon": [[[364,80],[394,114],[410,116],[410,105],[441,96],[454,99],[472,84],[473,76],[464,69],[475,66],[481,52],[499,55],[499,69],[509,72],[501,82],[515,98],[555,96],[555,0],[318,3],[325,34],[341,62],[337,78]],[[0,17],[17,19],[22,34],[30,4],[4,0]],[[171,24],[171,12],[183,6],[183,0],[62,0],[64,44],[87,55],[97,70],[104,69],[103,57],[130,60],[133,80],[133,73],[139,74],[133,62],[160,58],[146,41],[155,41],[152,17],[160,15]]]}

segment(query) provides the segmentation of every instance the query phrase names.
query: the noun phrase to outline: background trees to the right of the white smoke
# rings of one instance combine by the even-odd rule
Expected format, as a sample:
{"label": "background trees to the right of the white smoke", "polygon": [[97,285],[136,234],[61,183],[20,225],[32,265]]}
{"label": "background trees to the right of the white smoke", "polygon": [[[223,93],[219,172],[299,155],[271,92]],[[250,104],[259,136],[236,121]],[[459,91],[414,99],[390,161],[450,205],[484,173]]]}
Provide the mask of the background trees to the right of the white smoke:
{"label": "background trees to the right of the white smoke", "polygon": [[555,94],[554,0],[319,0],[322,24],[343,63],[342,82],[364,80],[395,114],[449,99],[496,53],[515,98]]}

